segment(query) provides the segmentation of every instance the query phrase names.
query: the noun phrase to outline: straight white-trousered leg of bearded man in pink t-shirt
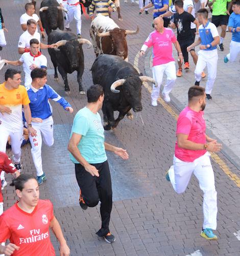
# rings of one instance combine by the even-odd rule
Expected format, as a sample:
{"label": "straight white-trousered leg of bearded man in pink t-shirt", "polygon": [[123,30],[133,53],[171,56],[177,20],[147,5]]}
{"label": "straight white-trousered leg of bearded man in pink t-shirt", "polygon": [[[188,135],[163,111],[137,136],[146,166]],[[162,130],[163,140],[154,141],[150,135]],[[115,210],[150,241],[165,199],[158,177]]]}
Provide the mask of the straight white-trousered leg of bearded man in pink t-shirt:
{"label": "straight white-trousered leg of bearded man in pink t-shirt", "polygon": [[217,228],[217,191],[215,190],[214,174],[211,166],[210,154],[206,153],[204,156],[195,160],[194,175],[199,181],[199,186],[203,191],[203,229]]}

